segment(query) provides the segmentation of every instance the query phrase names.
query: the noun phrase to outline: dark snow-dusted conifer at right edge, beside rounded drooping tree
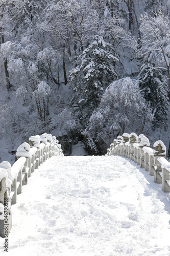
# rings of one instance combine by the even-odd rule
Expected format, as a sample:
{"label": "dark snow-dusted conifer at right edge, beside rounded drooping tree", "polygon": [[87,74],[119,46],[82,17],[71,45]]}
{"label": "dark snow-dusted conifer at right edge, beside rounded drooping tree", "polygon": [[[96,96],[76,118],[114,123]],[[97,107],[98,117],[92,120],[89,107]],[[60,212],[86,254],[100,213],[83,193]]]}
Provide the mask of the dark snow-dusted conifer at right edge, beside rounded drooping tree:
{"label": "dark snow-dusted conifer at right edge, beside rounded drooping tree", "polygon": [[150,104],[154,114],[153,130],[158,127],[166,130],[169,105],[167,76],[162,70],[154,69],[154,63],[150,59],[149,63],[144,62],[141,66],[138,81],[142,96]]}

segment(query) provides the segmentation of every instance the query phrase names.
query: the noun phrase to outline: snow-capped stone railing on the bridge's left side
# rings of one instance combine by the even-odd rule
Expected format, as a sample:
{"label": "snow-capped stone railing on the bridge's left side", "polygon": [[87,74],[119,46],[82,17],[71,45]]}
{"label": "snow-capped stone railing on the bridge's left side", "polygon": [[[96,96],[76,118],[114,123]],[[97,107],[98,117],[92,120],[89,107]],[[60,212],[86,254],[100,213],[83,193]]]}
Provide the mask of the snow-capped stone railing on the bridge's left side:
{"label": "snow-capped stone railing on the bridge's left side", "polygon": [[[52,156],[63,156],[61,145],[55,136],[42,134],[31,136],[30,144],[23,142],[17,149],[17,161],[0,163],[0,236],[7,237],[12,227],[11,204],[15,204],[22,185],[36,168]],[[6,228],[5,228],[6,227]]]}

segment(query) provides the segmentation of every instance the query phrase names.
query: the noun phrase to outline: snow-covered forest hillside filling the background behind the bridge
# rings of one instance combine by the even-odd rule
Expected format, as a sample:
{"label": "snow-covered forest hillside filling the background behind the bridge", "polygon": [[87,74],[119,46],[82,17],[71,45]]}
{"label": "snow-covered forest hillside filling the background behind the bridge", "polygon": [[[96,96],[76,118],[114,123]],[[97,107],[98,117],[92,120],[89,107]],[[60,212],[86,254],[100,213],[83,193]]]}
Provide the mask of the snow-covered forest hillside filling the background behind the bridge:
{"label": "snow-covered forest hillside filling the background behind the bridge", "polygon": [[105,154],[124,132],[168,146],[169,11],[169,0],[1,0],[1,161],[42,133],[66,155],[79,141]]}

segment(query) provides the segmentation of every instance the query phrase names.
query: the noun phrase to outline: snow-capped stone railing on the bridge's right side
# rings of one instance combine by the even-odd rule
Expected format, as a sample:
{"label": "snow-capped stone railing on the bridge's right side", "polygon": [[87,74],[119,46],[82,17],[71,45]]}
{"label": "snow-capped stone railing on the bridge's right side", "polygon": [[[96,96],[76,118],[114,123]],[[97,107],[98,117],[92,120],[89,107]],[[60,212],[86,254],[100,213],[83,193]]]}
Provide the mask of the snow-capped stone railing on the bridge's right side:
{"label": "snow-capped stone railing on the bridge's right side", "polygon": [[154,176],[155,183],[162,183],[164,192],[169,193],[170,163],[165,159],[166,147],[161,140],[154,143],[154,149],[149,146],[149,139],[143,134],[138,137],[135,133],[124,133],[113,140],[107,155],[119,155],[133,160]]}

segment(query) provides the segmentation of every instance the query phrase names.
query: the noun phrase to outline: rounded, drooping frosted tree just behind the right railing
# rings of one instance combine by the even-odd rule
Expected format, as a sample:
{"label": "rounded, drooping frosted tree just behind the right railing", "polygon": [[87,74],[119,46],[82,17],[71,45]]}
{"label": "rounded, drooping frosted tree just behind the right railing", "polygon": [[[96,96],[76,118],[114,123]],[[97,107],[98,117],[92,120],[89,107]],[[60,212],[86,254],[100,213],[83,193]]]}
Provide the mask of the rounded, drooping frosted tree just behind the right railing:
{"label": "rounded, drooping frosted tree just behind the right railing", "polygon": [[124,132],[146,132],[152,120],[152,110],[141,95],[138,81],[129,77],[113,81],[90,117],[84,131],[86,143],[95,145],[101,154],[112,138]]}

